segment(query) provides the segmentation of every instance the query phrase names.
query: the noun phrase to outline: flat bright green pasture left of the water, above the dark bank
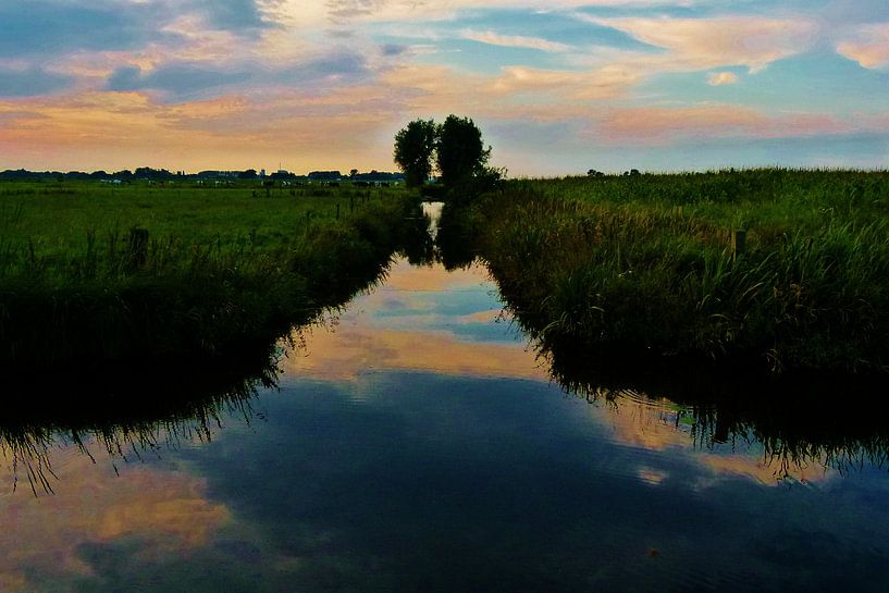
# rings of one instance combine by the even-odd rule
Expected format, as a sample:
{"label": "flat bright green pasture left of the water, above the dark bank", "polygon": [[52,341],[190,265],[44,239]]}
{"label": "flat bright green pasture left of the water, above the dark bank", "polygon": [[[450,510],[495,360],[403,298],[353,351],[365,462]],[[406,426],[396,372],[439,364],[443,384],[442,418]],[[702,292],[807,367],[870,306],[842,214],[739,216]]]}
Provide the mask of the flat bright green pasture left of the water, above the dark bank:
{"label": "flat bright green pasture left of the water, above the dark bank", "polygon": [[[225,255],[298,248],[312,224],[345,220],[369,199],[398,190],[277,186],[258,183],[108,185],[95,182],[0,184],[0,274],[44,270],[69,279],[79,263],[121,257],[132,228],[145,228],[153,251],[194,248]],[[36,269],[35,269],[36,268]]]}

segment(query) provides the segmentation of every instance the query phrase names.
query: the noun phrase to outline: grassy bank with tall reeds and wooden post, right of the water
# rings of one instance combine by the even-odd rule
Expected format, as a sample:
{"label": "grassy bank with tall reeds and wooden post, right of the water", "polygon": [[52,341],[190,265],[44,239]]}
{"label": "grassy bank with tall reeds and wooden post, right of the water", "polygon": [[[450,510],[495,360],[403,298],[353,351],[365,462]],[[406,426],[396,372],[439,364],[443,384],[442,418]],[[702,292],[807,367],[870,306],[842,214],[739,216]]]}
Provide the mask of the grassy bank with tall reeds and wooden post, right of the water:
{"label": "grassy bank with tall reeds and wooden post, right of the water", "polygon": [[889,369],[888,174],[511,182],[464,219],[544,348]]}

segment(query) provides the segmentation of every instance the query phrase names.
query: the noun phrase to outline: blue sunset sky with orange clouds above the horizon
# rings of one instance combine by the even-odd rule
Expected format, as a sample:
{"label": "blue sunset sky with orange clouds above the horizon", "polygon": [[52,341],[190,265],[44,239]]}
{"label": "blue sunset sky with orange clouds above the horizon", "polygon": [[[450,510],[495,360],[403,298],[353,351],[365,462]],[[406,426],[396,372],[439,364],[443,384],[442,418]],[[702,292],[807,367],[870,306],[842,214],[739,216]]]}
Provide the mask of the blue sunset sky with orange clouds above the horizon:
{"label": "blue sunset sky with orange clouds above the horizon", "polygon": [[3,0],[0,170],[886,168],[886,0]]}

